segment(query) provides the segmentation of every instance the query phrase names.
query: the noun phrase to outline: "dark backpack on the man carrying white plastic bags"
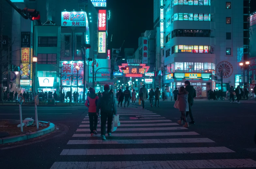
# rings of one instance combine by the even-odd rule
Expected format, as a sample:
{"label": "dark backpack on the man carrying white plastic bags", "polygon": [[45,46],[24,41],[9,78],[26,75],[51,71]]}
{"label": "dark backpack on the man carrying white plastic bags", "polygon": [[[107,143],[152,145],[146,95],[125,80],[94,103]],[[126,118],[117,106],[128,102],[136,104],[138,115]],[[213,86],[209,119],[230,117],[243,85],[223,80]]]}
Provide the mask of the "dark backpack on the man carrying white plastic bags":
{"label": "dark backpack on the man carrying white plastic bags", "polygon": [[113,111],[113,94],[112,93],[102,93],[101,94],[101,112],[111,113]]}

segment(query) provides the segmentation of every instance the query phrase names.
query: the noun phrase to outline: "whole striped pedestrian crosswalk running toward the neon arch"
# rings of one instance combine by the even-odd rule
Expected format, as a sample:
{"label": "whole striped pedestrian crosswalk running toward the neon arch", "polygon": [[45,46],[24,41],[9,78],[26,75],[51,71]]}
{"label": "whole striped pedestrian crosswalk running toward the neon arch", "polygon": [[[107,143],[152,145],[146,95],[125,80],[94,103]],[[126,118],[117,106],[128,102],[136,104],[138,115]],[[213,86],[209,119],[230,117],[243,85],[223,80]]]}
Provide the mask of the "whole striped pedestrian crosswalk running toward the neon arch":
{"label": "whole striped pedestrian crosswalk running toward the neon arch", "polygon": [[256,168],[256,161],[232,159],[235,151],[152,111],[132,105],[117,113],[121,126],[107,140],[100,124],[90,136],[87,115],[51,169]]}

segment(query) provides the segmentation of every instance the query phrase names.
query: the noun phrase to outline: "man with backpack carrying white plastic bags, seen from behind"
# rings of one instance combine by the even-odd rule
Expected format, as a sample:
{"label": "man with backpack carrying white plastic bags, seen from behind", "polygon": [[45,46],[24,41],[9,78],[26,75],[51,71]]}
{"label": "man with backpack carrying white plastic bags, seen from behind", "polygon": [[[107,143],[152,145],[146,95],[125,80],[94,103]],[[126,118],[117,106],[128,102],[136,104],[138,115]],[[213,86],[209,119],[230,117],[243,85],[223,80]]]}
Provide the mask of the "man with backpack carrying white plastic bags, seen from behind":
{"label": "man with backpack carrying white plastic bags, seen from behind", "polygon": [[111,136],[113,114],[116,115],[115,98],[112,93],[109,93],[109,85],[104,85],[104,92],[99,96],[96,113],[99,113],[101,120],[101,139],[106,140],[106,122],[108,120],[108,136]]}

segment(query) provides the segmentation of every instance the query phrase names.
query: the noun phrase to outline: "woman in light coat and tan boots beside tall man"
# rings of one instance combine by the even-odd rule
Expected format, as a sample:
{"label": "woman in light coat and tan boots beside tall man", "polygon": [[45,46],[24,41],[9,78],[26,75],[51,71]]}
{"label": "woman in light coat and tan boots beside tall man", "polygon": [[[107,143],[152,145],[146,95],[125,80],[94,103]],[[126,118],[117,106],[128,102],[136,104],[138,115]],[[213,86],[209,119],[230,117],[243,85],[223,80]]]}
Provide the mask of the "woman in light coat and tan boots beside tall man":
{"label": "woman in light coat and tan boots beside tall man", "polygon": [[189,111],[188,92],[186,91],[184,86],[180,87],[179,93],[177,95],[177,100],[179,102],[179,111],[181,112],[181,117],[180,120],[178,120],[178,124],[182,124],[182,122],[184,121],[185,125],[183,125],[183,127],[189,127],[185,114],[186,111]]}

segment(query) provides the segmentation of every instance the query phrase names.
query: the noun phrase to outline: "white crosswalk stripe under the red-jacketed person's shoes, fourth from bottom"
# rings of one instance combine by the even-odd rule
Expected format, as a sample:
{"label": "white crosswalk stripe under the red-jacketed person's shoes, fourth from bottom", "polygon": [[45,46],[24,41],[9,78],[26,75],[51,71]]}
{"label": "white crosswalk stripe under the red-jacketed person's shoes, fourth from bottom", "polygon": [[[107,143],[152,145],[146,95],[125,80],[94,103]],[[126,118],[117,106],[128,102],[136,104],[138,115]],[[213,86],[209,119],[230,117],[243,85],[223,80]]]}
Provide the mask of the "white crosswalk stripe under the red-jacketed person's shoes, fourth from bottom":
{"label": "white crosswalk stripe under the red-jacketed person's shoes, fourth from bottom", "polygon": [[[200,135],[196,132],[169,132],[169,133],[115,133],[111,137],[138,137],[138,136],[186,136]],[[100,134],[94,135],[100,137]],[[91,137],[91,134],[74,134],[72,137]]]}

